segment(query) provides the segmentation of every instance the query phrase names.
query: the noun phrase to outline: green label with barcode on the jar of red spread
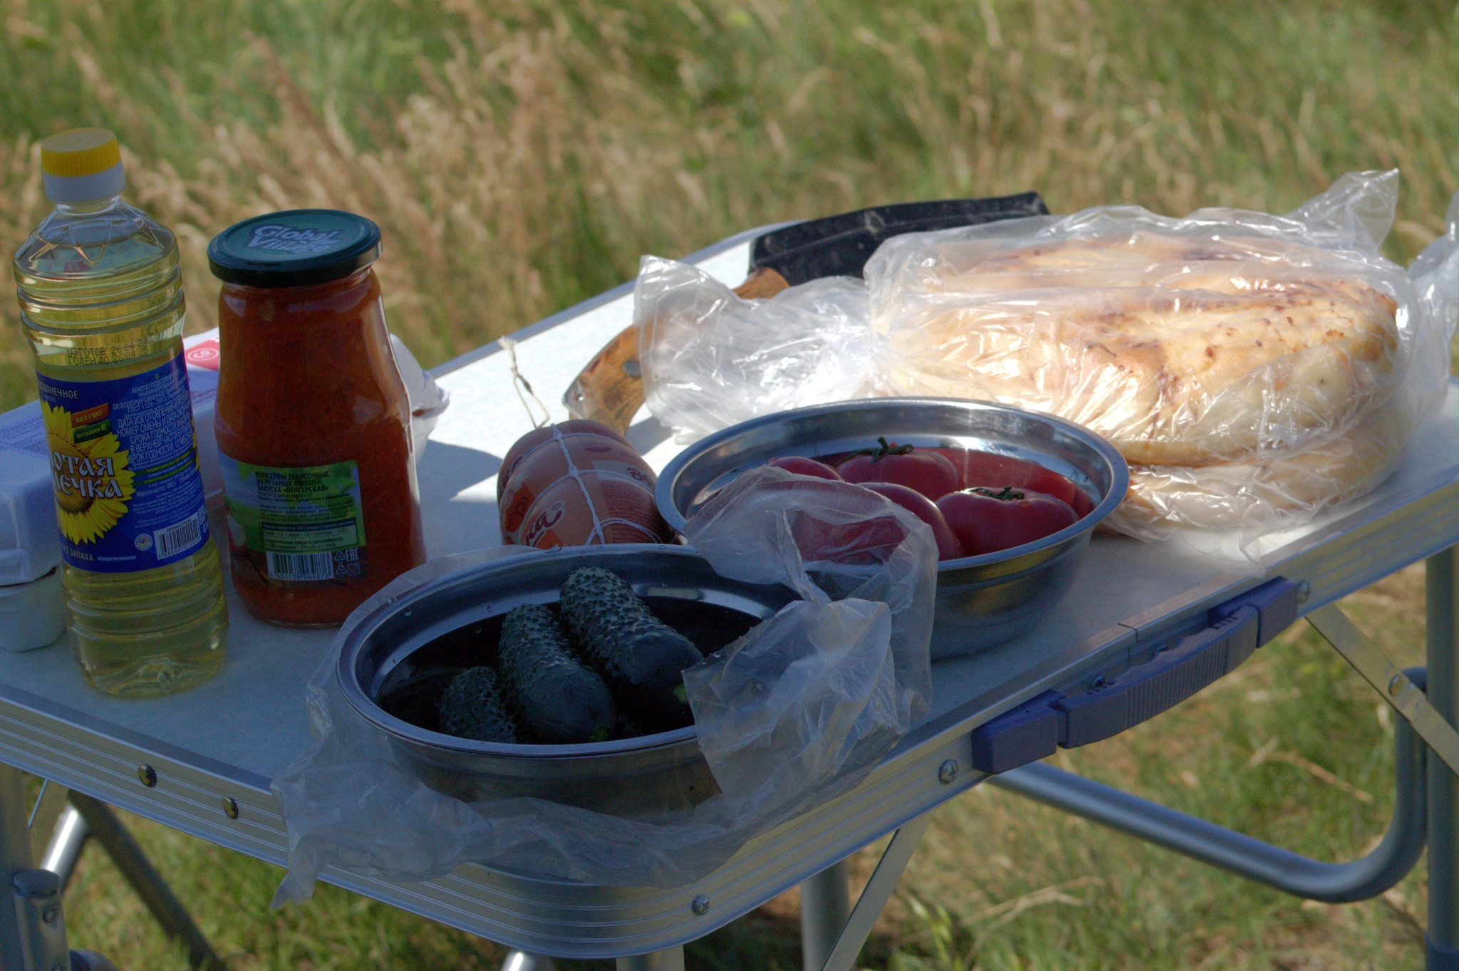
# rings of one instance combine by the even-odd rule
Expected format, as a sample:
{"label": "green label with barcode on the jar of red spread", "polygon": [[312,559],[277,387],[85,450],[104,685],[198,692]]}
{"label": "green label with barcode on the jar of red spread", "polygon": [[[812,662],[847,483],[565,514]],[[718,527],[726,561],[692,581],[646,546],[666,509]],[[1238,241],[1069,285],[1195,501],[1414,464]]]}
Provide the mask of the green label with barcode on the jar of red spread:
{"label": "green label with barcode on the jar of red spread", "polygon": [[263,554],[270,580],[365,576],[365,513],[355,462],[271,468],[217,458],[232,544]]}

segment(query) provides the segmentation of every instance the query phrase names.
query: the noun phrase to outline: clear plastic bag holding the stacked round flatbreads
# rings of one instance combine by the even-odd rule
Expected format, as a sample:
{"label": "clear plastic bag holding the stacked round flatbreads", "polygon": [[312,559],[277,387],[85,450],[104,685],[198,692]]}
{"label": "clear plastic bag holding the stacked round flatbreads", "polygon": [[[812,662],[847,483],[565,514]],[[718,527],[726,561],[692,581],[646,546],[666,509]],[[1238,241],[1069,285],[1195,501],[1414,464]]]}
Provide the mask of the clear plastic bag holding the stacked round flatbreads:
{"label": "clear plastic bag holding the stacked round flatbreads", "polygon": [[1287,216],[1100,207],[897,236],[867,264],[900,394],[1048,411],[1110,439],[1107,522],[1261,535],[1360,496],[1443,399],[1459,255],[1379,252],[1398,172]]}

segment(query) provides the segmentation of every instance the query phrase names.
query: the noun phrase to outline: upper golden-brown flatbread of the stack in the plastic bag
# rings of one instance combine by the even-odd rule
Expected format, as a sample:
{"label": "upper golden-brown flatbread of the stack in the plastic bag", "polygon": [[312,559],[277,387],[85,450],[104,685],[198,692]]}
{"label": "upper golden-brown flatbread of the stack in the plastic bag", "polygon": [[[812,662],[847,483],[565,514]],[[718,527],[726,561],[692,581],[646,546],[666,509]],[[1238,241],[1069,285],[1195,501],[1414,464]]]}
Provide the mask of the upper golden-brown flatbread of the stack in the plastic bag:
{"label": "upper golden-brown flatbread of the stack in the plastic bag", "polygon": [[1396,302],[1342,262],[1266,238],[956,241],[872,299],[907,394],[1018,404],[1129,462],[1207,467],[1342,434],[1392,395]]}

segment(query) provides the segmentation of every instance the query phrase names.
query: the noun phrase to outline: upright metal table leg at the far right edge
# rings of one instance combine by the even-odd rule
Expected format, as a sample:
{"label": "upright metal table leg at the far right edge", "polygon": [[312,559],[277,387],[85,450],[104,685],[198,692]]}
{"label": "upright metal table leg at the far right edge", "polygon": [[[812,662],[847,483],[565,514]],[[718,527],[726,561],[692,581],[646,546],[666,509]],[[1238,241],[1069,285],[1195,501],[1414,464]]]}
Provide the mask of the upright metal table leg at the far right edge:
{"label": "upright metal table leg at the far right edge", "polygon": [[[1459,547],[1425,564],[1428,703],[1455,723],[1459,707]],[[1430,971],[1459,968],[1459,779],[1428,758]]]}

